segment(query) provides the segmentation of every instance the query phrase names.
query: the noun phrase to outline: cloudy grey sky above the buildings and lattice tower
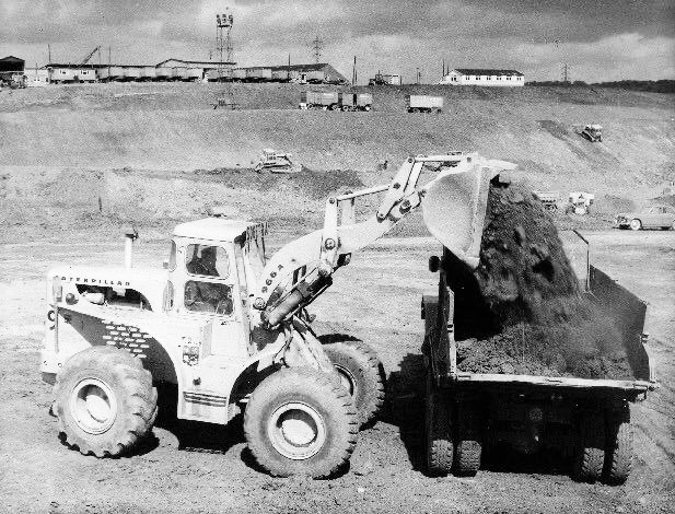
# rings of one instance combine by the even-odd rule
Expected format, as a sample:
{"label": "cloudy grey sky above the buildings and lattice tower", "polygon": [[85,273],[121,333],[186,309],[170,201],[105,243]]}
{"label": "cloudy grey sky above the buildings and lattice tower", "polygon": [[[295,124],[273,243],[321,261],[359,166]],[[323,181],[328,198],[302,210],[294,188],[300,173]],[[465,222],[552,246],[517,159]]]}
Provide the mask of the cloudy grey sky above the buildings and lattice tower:
{"label": "cloudy grey sky above the buildings and lattice tower", "polygon": [[[216,13],[234,16],[240,66],[322,62],[358,82],[377,70],[438,82],[445,67],[503,68],[526,80],[675,79],[673,0],[0,0],[0,57],[116,63],[216,56]],[[93,60],[98,61],[98,56]]]}

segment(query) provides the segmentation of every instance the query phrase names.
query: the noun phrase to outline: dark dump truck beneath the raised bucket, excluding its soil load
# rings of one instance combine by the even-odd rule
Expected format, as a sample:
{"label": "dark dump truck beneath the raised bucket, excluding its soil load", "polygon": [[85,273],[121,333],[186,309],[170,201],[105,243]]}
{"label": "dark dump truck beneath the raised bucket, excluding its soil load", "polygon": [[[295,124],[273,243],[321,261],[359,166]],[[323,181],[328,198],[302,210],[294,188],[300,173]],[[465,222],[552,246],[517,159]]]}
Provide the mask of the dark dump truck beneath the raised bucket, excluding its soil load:
{"label": "dark dump truck beneath the raised bucket, excluding its soil load", "polygon": [[579,481],[625,482],[632,458],[629,404],[656,385],[644,348],[647,304],[586,261],[585,294],[614,319],[635,379],[467,373],[457,365],[458,343],[485,324],[472,315],[473,276],[447,247],[429,265],[439,273],[438,293],[422,299],[429,472],[476,475],[484,448],[507,444],[522,454],[552,449],[571,457]]}

